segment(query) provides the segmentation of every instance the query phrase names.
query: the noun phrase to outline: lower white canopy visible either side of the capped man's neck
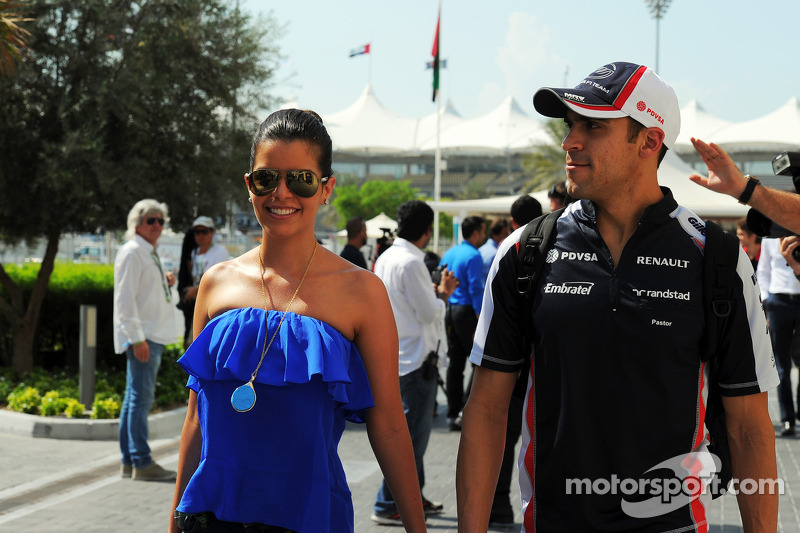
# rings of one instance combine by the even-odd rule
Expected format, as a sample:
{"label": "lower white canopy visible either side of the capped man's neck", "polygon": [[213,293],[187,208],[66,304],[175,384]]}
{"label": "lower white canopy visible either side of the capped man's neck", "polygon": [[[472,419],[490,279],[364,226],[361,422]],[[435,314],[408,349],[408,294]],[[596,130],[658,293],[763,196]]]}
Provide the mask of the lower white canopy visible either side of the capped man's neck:
{"label": "lower white canopy visible either side of the capped man's neck", "polygon": [[[728,195],[711,192],[689,181],[694,171],[674,152],[667,152],[658,170],[659,184],[669,187],[675,200],[682,206],[704,218],[738,218],[747,214],[747,206],[739,204]],[[547,191],[531,194],[542,204],[544,212],[549,211],[550,202]],[[429,202],[434,209],[455,215],[468,213],[505,213],[519,196],[502,196],[481,200],[462,200],[455,202]]]}

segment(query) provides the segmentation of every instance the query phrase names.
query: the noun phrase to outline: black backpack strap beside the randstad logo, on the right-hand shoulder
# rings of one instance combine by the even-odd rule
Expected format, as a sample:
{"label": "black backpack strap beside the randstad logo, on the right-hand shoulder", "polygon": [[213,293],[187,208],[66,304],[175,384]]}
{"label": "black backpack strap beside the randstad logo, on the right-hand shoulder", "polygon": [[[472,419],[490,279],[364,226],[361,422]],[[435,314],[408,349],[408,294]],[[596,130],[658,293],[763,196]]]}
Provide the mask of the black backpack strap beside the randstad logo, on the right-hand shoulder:
{"label": "black backpack strap beside the randstad logo, on the right-hand shoulder", "polygon": [[703,310],[706,327],[700,353],[703,361],[710,361],[717,355],[719,341],[730,321],[739,247],[736,235],[724,231],[710,220],[706,221],[703,260]]}

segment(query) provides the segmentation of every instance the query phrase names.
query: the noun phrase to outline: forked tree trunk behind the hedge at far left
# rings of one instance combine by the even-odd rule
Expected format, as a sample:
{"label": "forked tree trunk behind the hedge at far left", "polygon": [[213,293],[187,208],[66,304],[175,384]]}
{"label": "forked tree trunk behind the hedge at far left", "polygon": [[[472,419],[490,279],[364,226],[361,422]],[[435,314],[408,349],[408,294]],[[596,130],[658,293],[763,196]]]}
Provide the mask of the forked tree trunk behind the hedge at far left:
{"label": "forked tree trunk behind the hedge at far left", "polygon": [[[0,274],[7,292],[12,294],[12,304],[3,302],[2,308],[7,316],[9,309],[13,313],[13,316],[10,317],[14,335],[11,364],[14,370],[20,373],[27,373],[33,369],[33,343],[36,338],[36,328],[39,325],[39,313],[42,309],[44,296],[47,293],[47,286],[50,283],[50,275],[53,273],[60,238],[61,234],[56,232],[52,232],[47,236],[47,247],[39,268],[39,274],[33,285],[27,309],[23,309],[21,296],[13,296],[14,293],[21,295],[21,288],[8,278],[5,271]],[[8,290],[9,284],[13,286],[12,291]]]}

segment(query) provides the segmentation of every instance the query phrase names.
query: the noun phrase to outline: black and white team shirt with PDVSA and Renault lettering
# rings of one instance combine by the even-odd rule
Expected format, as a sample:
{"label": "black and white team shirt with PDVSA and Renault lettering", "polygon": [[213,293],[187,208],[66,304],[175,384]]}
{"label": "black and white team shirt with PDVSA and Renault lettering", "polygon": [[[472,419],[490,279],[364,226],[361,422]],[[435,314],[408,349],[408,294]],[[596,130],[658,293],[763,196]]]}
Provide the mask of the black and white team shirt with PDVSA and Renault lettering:
{"label": "black and white team shirt with PDVSA and Renault lettering", "polygon": [[[667,188],[615,267],[594,206],[572,204],[520,316],[522,229],[489,272],[470,361],[518,372],[531,358],[519,456],[523,531],[706,531],[713,472],[699,343],[704,222]],[[724,395],[777,386],[767,324],[740,251],[732,326],[718,356]],[[523,328],[532,328],[533,355]],[[676,481],[677,480],[677,481]],[[681,494],[675,492],[676,483]]]}

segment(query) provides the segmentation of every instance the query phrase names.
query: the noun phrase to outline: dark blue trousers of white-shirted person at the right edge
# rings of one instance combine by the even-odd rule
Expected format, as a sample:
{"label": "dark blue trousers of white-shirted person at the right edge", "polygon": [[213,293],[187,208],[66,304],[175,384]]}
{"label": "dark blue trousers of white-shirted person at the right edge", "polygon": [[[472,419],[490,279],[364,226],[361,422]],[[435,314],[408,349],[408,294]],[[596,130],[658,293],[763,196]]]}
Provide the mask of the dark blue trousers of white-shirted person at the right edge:
{"label": "dark blue trousers of white-shirted person at the right edge", "polygon": [[[781,383],[778,385],[778,404],[781,408],[781,421],[794,426],[795,408],[792,399],[792,360],[800,348],[800,297],[770,294],[764,302],[769,320],[769,334],[772,351],[775,353],[775,366]],[[800,404],[800,386],[798,387]]]}

